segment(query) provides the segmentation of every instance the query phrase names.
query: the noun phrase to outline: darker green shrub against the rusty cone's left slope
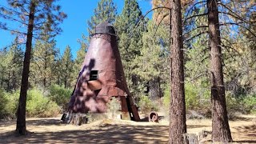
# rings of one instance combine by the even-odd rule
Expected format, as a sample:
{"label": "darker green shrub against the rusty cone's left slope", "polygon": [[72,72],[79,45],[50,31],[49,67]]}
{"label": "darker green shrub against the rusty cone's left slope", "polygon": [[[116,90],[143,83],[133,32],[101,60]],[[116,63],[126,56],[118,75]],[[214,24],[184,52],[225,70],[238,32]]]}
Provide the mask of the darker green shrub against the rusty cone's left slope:
{"label": "darker green shrub against the rusty cone's left slope", "polygon": [[61,106],[62,109],[66,108],[66,104],[70,102],[70,97],[72,94],[72,90],[66,89],[62,86],[52,85],[50,86],[50,94],[48,97],[56,102],[58,106]]}

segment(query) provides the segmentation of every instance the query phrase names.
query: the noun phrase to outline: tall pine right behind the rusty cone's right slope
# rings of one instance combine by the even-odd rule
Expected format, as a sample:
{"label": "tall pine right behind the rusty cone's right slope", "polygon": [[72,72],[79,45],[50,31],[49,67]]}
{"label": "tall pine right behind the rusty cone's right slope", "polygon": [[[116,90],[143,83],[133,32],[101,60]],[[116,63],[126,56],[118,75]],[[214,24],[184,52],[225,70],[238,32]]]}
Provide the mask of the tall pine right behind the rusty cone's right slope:
{"label": "tall pine right behind the rusty cone's right slope", "polygon": [[118,31],[118,48],[126,74],[126,82],[130,92],[135,97],[138,97],[138,93],[143,91],[144,87],[139,82],[138,74],[134,72],[134,58],[141,55],[142,33],[145,30],[144,27],[146,27],[146,22],[140,22],[140,18],[142,18],[142,11],[138,6],[138,2],[126,0],[122,14],[118,16],[117,21],[114,23]]}

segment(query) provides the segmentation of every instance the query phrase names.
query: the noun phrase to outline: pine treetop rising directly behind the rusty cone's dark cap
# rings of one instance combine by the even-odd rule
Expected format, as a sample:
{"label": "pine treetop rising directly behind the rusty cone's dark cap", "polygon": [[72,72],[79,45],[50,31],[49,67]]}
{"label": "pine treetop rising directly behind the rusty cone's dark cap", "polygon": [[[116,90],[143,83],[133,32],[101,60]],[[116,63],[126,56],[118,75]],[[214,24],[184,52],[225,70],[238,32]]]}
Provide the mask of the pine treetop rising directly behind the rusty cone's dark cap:
{"label": "pine treetop rising directly behind the rusty cone's dark cap", "polygon": [[117,15],[117,6],[113,0],[101,0],[94,9],[94,16],[87,21],[88,33],[92,34],[95,26],[101,22],[113,24]]}

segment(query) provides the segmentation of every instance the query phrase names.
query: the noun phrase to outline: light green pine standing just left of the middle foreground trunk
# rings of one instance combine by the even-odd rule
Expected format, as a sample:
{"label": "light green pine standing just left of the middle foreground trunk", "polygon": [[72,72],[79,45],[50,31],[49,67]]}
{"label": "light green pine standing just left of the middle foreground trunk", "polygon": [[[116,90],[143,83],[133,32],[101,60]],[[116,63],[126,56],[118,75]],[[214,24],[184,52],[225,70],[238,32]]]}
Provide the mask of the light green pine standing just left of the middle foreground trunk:
{"label": "light green pine standing just left of the middle foreground trunk", "polygon": [[[141,55],[134,59],[134,73],[138,74],[147,88],[150,99],[162,96],[162,87],[168,81],[169,31],[164,25],[148,22],[147,30],[142,34]],[[157,30],[157,31],[156,31]],[[144,91],[142,91],[144,92]]]}

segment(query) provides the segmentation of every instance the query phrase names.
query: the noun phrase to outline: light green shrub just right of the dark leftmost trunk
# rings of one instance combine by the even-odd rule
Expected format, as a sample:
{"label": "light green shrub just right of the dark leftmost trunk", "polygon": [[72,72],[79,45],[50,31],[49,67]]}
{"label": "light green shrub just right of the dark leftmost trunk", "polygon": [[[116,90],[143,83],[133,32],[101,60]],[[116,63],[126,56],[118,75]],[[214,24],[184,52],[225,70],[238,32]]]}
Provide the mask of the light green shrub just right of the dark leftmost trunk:
{"label": "light green shrub just right of the dark leftmost trunk", "polygon": [[45,97],[40,90],[29,90],[26,101],[28,117],[53,117],[59,114],[60,107],[50,98]]}

